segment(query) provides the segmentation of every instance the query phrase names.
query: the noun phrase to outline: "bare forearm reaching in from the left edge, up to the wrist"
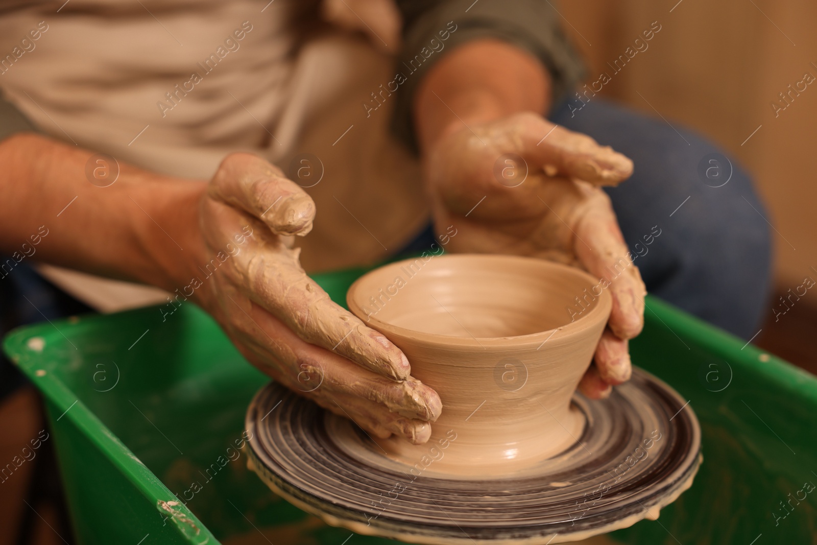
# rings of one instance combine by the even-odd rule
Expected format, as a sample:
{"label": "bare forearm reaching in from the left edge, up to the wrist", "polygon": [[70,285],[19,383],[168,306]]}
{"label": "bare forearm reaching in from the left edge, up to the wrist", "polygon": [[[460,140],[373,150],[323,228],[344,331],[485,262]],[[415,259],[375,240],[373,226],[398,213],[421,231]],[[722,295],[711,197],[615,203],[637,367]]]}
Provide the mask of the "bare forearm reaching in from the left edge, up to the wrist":
{"label": "bare forearm reaching in from the left edge, up to the wrist", "polygon": [[30,133],[0,141],[0,252],[176,288],[202,253],[206,185],[119,162],[114,184],[99,187],[86,176],[92,155]]}

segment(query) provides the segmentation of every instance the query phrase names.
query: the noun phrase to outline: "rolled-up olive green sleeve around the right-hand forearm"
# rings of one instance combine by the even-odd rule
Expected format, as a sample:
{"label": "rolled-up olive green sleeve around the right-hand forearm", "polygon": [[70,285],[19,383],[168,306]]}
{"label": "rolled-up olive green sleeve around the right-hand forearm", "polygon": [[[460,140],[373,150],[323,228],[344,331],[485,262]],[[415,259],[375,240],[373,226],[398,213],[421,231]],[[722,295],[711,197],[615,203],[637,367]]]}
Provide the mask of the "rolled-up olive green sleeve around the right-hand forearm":
{"label": "rolled-up olive green sleeve around the right-hand forearm", "polygon": [[554,106],[584,76],[582,60],[548,0],[397,0],[397,4],[404,46],[396,71],[404,78],[395,79],[392,129],[415,151],[412,104],[417,86],[436,61],[462,43],[497,38],[532,53],[551,74]]}

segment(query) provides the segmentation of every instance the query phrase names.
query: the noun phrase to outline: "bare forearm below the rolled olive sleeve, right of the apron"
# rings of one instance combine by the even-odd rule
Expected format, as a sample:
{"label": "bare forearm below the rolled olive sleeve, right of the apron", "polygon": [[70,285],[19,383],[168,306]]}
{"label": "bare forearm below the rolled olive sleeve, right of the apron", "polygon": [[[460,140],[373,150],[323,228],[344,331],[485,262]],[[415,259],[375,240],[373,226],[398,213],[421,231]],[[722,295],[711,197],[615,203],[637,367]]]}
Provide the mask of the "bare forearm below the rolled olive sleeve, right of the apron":
{"label": "bare forearm below the rolled olive sleeve, right of the apron", "polygon": [[414,97],[414,123],[425,153],[463,123],[484,123],[550,107],[551,79],[528,52],[499,40],[469,42],[438,61]]}

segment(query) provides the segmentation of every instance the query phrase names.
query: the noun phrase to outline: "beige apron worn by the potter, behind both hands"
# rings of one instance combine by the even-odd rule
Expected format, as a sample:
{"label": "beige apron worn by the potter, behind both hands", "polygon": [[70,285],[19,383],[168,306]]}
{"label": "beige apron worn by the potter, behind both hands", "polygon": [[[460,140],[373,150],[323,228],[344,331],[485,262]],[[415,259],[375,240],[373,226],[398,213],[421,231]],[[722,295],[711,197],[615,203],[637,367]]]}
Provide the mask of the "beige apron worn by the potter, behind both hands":
{"label": "beige apron worn by the potter, behind both hands", "polygon": [[[307,270],[371,263],[422,229],[427,199],[415,159],[387,130],[391,101],[364,107],[393,78],[393,59],[331,27],[305,41],[296,23],[313,7],[0,2],[0,88],[50,136],[154,172],[206,180],[232,151],[259,154],[315,199],[315,228],[298,241]],[[166,297],[43,272],[100,310]]]}

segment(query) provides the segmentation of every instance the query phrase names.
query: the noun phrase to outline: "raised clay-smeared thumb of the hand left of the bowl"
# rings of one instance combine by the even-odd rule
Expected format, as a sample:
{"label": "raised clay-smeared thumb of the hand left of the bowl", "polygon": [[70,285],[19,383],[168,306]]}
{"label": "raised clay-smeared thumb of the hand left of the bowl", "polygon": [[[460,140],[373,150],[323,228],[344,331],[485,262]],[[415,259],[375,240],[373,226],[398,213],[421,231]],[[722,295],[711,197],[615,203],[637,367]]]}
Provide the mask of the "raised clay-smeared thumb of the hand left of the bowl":
{"label": "raised clay-smeared thumb of the hand left of the bowl", "polygon": [[315,203],[283,172],[253,154],[230,154],[221,162],[208,194],[266,223],[275,235],[306,235]]}

